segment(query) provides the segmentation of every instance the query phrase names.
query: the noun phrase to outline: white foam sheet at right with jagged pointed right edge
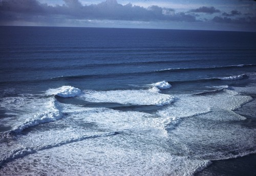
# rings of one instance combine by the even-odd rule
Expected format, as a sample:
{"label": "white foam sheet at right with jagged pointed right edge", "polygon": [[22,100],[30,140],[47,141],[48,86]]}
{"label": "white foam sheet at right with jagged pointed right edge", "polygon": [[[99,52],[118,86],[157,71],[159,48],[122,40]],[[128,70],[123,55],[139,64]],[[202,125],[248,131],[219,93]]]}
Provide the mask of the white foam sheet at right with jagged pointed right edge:
{"label": "white foam sheet at right with jagged pointed right edge", "polygon": [[236,110],[252,100],[251,96],[240,95],[232,90],[224,90],[222,93],[214,95],[175,96],[177,100],[172,106],[159,110],[157,113],[163,117],[160,123],[166,130],[173,129],[182,118],[198,115],[218,121],[244,120],[245,117],[232,112],[232,110]]}

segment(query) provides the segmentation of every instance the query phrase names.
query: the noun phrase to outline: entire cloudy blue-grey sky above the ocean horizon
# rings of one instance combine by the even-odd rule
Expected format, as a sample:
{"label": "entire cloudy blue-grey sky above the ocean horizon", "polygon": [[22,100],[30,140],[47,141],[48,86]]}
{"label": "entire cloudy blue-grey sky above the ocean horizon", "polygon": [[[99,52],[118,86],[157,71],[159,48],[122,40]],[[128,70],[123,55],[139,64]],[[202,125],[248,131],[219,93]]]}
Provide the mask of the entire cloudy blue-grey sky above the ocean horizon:
{"label": "entire cloudy blue-grey sky above the ocean horizon", "polygon": [[256,1],[0,0],[0,25],[256,32]]}

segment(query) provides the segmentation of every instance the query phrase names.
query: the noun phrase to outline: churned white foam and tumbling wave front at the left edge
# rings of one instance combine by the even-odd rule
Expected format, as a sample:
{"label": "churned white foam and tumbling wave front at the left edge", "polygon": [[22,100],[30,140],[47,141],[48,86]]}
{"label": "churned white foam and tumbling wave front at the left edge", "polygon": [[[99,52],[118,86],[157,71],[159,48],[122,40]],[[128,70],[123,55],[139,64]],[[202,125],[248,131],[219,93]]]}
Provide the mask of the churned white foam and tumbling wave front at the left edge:
{"label": "churned white foam and tumbling wave front at the left edge", "polygon": [[17,97],[5,97],[0,105],[8,116],[1,120],[0,124],[6,122],[4,126],[12,127],[16,132],[62,117],[61,107],[54,97],[23,94]]}

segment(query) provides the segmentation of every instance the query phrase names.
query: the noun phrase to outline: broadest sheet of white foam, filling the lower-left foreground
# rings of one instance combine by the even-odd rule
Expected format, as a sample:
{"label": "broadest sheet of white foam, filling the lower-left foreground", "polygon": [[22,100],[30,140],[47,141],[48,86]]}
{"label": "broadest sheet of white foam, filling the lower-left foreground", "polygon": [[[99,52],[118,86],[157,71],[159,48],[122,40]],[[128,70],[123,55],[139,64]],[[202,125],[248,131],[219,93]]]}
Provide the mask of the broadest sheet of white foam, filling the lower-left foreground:
{"label": "broadest sheet of white foam, filling the lower-left foreground", "polygon": [[[150,172],[151,175],[163,175],[168,172],[176,172],[174,169],[176,165],[183,169],[186,157],[173,158],[159,145],[165,141],[165,137],[162,135],[162,129],[156,126],[157,118],[153,115],[136,111],[87,108],[69,104],[61,106],[61,111],[69,114],[68,118],[58,121],[58,126],[64,124],[64,128],[42,130],[28,133],[26,136],[19,136],[15,144],[9,148],[2,147],[3,144],[0,144],[0,147],[5,149],[5,152],[2,150],[0,153],[8,154],[2,157],[2,163],[5,163],[1,170],[2,173],[15,174],[15,169],[7,171],[10,164],[14,164],[14,167],[22,166],[19,172],[20,174],[24,173],[31,161],[40,163],[36,166],[37,169],[29,171],[35,175],[41,169],[44,169],[44,173],[47,172],[48,175],[56,175],[56,173],[61,175],[73,175],[74,173],[81,173],[81,175],[84,173],[89,175],[143,175],[147,172]],[[82,126],[88,123],[95,124],[95,126],[92,129]],[[116,131],[120,131],[120,134],[115,133]],[[64,151],[66,155],[63,155]],[[50,161],[47,161],[46,156],[48,155],[51,156]],[[29,161],[30,159],[32,160]],[[27,160],[28,162],[26,162]],[[60,162],[56,162],[57,160],[62,164],[58,164]],[[20,165],[23,162],[26,164]],[[173,164],[173,168],[169,167],[170,163]],[[191,160],[187,163],[189,164],[185,165],[188,168],[191,167],[191,164],[193,168],[197,168],[201,162]],[[63,173],[51,170],[54,169],[52,166],[57,170],[60,169]],[[186,171],[183,169],[180,173],[186,173]]]}

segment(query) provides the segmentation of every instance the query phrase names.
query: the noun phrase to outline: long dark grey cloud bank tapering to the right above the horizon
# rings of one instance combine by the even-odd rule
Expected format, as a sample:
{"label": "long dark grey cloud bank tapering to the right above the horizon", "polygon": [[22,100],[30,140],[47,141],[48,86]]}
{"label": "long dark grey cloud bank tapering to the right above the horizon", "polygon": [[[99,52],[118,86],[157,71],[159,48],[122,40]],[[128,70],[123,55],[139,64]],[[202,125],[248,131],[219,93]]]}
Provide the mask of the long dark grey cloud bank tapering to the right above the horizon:
{"label": "long dark grey cloud bank tapering to the right above the horizon", "polygon": [[63,0],[64,5],[48,6],[36,0],[0,0],[0,21],[63,19],[109,19],[137,21],[196,21],[196,17],[175,13],[173,9],[151,6],[143,8],[132,4],[121,5],[116,0],[83,6],[78,0]]}

